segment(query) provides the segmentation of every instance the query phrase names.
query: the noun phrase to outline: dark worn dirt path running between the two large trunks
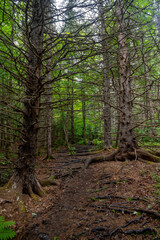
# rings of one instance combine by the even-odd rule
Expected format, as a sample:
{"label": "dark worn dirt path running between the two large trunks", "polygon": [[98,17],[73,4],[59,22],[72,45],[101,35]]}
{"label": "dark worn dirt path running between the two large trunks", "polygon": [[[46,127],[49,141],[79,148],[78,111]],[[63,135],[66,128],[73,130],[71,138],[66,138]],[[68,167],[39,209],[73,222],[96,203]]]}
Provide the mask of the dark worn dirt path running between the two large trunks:
{"label": "dark worn dirt path running between the two large trunks", "polygon": [[[75,153],[89,152],[89,149],[92,147],[76,146]],[[88,216],[89,190],[94,181],[94,169],[84,170],[83,158],[74,155],[68,158],[68,151],[58,152],[55,169],[61,175],[61,193],[56,202],[29,226],[23,240],[52,240],[56,237],[58,240],[69,240],[76,239],[74,234],[81,232],[81,222]]]}

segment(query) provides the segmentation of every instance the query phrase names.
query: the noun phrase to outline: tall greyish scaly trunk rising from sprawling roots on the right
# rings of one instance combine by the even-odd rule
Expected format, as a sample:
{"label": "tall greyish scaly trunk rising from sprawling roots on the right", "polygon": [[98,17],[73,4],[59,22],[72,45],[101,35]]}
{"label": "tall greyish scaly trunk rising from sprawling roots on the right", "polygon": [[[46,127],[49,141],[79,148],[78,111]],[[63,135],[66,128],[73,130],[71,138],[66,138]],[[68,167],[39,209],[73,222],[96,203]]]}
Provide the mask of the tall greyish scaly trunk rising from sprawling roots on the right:
{"label": "tall greyish scaly trunk rising from sprawling roots on the right", "polygon": [[120,67],[120,125],[121,136],[119,152],[133,152],[137,141],[132,126],[131,82],[129,76],[128,46],[125,33],[124,3],[117,1],[118,48]]}

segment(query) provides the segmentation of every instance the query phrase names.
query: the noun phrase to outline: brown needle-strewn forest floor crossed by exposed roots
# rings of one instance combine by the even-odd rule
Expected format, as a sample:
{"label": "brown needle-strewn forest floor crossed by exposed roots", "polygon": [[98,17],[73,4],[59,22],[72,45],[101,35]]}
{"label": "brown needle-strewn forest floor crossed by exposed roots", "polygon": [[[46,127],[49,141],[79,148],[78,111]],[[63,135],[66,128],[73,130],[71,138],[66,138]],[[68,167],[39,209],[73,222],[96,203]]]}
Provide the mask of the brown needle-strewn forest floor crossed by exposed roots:
{"label": "brown needle-strewn forest floor crossed by exposed roots", "polygon": [[24,195],[20,204],[1,190],[0,213],[16,222],[16,240],[160,239],[160,164],[109,161],[84,169],[91,148],[38,157],[38,177],[56,182],[42,198]]}

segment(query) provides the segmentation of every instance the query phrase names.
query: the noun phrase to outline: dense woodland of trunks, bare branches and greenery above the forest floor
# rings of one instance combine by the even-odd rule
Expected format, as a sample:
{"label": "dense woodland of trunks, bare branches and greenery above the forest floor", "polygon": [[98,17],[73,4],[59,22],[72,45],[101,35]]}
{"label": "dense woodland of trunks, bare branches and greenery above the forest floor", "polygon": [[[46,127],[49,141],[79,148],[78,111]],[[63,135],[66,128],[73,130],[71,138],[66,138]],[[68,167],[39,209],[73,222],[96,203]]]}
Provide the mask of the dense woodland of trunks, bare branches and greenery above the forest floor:
{"label": "dense woodland of trunks, bare branches and greenery above the forest floor", "polygon": [[159,146],[159,43],[158,0],[1,1],[0,161],[24,192],[57,147]]}

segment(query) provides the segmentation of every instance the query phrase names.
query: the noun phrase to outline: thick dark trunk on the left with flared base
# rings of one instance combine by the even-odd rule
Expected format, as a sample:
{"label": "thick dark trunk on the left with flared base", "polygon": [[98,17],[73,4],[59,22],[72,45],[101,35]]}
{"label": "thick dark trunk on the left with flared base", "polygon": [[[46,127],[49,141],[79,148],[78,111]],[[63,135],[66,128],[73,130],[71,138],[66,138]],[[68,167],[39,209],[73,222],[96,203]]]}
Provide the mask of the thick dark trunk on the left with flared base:
{"label": "thick dark trunk on the left with flared base", "polygon": [[[21,193],[41,195],[42,188],[35,174],[35,163],[42,91],[41,67],[46,1],[34,0],[29,7],[32,7],[32,19],[30,29],[27,29],[30,30],[30,39],[28,39],[28,77],[25,84],[23,128],[18,161],[10,182],[13,184],[12,187]],[[29,7],[26,12],[29,11]]]}

